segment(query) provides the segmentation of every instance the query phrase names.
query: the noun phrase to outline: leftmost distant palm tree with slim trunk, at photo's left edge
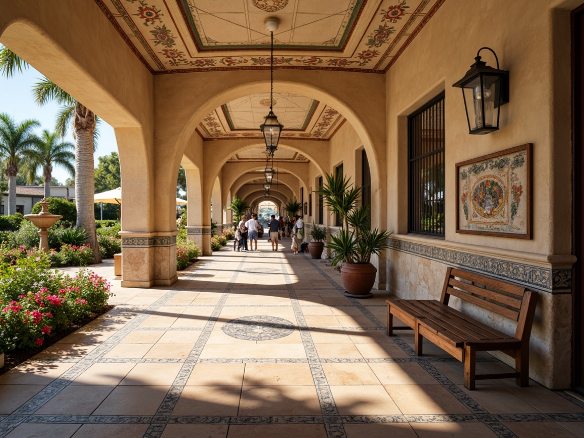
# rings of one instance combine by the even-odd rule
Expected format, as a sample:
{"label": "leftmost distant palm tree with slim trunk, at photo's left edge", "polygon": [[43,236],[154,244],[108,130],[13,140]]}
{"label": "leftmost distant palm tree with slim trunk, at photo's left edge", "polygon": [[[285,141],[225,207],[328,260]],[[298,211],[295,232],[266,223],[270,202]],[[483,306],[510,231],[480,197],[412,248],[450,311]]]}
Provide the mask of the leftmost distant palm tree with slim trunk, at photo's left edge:
{"label": "leftmost distant palm tree with slim trunk, at photo's left edge", "polygon": [[20,124],[6,113],[0,113],[0,156],[4,159],[8,176],[8,214],[16,213],[16,174],[26,157],[27,151],[39,144],[34,128],[39,127],[37,120],[25,120]]}

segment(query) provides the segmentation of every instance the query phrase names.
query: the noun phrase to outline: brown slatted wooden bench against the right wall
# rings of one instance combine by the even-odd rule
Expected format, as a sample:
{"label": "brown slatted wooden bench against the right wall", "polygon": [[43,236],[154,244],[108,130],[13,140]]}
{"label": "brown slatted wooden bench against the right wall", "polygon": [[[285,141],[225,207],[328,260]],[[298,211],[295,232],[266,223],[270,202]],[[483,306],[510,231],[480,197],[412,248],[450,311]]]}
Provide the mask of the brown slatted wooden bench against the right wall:
{"label": "brown slatted wooden bench against the right wall", "polygon": [[[468,283],[470,282],[470,283]],[[517,322],[515,336],[506,335],[449,307],[458,297]],[[521,286],[449,267],[442,297],[437,300],[387,300],[387,335],[395,329],[413,329],[415,350],[422,356],[426,338],[464,362],[464,386],[474,390],[475,380],[515,377],[529,385],[529,338],[536,311],[537,293]],[[393,317],[407,326],[395,327]],[[501,351],[515,359],[515,373],[476,374],[478,351]]]}

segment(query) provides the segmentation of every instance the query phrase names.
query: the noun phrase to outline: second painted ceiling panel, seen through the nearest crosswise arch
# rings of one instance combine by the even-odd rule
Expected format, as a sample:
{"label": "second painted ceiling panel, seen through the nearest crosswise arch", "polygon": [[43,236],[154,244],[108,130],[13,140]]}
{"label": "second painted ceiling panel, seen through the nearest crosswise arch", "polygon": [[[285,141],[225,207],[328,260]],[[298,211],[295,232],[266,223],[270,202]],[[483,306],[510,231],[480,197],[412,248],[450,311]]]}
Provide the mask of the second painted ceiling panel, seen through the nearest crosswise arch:
{"label": "second painted ceiling panel, seen through the nearest crosswise arch", "polygon": [[[338,111],[324,103],[290,93],[274,93],[273,109],[284,125],[281,140],[330,140],[345,123]],[[204,140],[225,138],[263,139],[259,126],[270,106],[270,93],[232,100],[217,108],[199,124]]]}

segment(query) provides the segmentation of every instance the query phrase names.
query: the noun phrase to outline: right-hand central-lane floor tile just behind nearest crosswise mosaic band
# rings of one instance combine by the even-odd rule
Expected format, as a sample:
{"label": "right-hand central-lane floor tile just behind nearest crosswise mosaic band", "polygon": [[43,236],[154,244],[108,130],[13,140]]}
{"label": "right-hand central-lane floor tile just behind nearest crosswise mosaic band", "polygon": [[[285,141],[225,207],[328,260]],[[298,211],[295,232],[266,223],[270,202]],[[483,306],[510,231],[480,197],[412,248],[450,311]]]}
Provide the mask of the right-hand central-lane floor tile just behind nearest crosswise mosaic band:
{"label": "right-hand central-lane floor tile just behind nearest crosswise mosaic band", "polygon": [[322,415],[314,385],[244,386],[239,415]]}

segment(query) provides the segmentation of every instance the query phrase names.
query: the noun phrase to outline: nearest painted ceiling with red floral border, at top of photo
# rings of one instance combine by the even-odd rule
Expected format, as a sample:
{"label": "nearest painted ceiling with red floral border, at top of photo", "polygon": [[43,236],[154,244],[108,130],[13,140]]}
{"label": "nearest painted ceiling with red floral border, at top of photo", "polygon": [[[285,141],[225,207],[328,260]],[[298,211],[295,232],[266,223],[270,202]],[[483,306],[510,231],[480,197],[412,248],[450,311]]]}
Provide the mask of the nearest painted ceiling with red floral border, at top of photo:
{"label": "nearest painted ceiling with red floral border, at top of photo", "polygon": [[445,0],[95,0],[154,74],[269,68],[383,73]]}

